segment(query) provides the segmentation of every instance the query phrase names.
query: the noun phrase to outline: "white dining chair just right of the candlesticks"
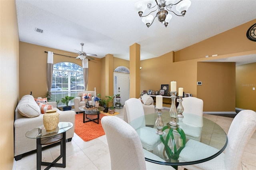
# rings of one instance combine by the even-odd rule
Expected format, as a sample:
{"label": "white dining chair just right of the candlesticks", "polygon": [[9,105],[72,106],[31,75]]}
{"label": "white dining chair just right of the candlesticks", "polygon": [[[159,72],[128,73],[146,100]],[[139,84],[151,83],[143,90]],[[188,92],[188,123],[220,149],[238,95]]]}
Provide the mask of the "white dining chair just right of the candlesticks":
{"label": "white dining chair just right of the candlesticks", "polygon": [[186,134],[187,139],[200,141],[203,127],[204,102],[202,99],[198,99],[196,97],[185,97],[182,99],[182,106],[184,107],[184,118],[179,121],[178,125]]}

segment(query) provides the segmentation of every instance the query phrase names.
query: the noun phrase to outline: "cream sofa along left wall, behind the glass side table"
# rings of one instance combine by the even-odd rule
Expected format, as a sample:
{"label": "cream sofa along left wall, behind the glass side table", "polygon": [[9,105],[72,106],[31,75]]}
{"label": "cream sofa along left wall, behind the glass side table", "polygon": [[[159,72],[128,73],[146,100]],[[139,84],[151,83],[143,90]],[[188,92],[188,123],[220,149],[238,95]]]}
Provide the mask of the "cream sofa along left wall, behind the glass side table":
{"label": "cream sofa along left wall, behind the glass side table", "polygon": [[[57,110],[60,122],[71,122],[73,127],[66,132],[66,139],[68,142],[74,136],[75,112],[74,111],[60,111],[57,109],[56,102],[48,102]],[[14,117],[14,158],[20,160],[22,154],[36,150],[36,139],[27,138],[26,132],[32,128],[43,126],[43,114],[39,105],[36,103],[32,95],[25,95],[20,99]],[[42,145],[46,146],[46,145]]]}

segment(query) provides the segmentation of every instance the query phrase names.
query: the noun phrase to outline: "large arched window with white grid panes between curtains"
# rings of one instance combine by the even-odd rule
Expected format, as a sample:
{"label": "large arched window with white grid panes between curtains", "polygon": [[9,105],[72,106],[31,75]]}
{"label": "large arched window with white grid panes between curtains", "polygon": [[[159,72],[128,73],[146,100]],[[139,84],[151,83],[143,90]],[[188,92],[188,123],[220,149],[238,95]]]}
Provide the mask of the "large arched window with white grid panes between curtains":
{"label": "large arched window with white grid panes between curtains", "polygon": [[[51,101],[59,101],[58,107],[65,106],[61,99],[66,96],[76,97],[78,91],[84,90],[83,69],[70,62],[53,65]],[[74,105],[74,100],[69,105]]]}

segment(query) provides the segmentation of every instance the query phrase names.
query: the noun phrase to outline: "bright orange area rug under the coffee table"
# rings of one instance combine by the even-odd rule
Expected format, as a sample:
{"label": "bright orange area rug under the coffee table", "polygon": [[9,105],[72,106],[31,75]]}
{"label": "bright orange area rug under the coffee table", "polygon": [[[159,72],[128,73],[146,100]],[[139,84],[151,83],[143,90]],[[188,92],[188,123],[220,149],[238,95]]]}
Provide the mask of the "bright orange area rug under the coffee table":
{"label": "bright orange area rug under the coffee table", "polygon": [[[97,124],[92,121],[83,123],[83,113],[76,114],[75,115],[75,133],[84,141],[89,141],[104,135],[105,132],[101,125],[101,118],[104,116],[106,115],[100,114],[99,124]],[[87,115],[87,117],[94,119],[97,117],[97,115]],[[85,121],[87,120],[88,119],[85,118]]]}

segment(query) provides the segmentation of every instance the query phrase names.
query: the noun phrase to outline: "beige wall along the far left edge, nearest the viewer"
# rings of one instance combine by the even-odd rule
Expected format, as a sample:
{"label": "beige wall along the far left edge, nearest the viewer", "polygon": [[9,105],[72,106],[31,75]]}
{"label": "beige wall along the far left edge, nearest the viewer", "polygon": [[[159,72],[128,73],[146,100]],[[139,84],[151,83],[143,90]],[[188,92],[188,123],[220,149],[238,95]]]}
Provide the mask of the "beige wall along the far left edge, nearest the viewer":
{"label": "beige wall along the far left edge, nearest the viewer", "polygon": [[19,98],[19,36],[14,0],[0,1],[0,169],[14,161],[14,110]]}

